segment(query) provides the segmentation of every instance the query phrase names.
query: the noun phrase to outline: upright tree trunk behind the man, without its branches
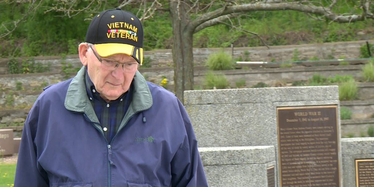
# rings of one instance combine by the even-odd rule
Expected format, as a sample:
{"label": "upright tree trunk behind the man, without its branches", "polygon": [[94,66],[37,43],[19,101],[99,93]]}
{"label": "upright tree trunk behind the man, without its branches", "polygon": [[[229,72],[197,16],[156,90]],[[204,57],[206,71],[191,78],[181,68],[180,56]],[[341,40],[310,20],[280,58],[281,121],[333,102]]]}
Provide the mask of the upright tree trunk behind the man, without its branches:
{"label": "upright tree trunk behind the man, without its branches", "polygon": [[169,4],[173,27],[173,61],[174,61],[174,91],[184,103],[183,91],[193,89],[193,30],[187,13],[187,6],[180,1]]}

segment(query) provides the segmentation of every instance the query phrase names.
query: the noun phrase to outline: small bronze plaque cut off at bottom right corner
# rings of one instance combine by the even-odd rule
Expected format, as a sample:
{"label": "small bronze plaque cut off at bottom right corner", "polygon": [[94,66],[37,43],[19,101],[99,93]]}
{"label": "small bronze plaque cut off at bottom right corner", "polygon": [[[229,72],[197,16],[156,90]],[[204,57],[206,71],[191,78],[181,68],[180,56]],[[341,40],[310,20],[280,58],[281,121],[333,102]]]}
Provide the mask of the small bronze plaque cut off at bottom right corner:
{"label": "small bronze plaque cut off at bottom right corner", "polygon": [[356,159],[356,187],[374,186],[374,159]]}

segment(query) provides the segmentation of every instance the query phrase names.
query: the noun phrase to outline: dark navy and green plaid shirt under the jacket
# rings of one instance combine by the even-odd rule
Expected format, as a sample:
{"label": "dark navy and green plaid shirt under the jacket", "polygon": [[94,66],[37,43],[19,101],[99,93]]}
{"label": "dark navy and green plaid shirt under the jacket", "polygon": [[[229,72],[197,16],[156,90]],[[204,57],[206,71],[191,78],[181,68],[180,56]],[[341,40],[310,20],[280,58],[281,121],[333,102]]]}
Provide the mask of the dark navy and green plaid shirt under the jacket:
{"label": "dark navy and green plaid shirt under the jacket", "polygon": [[108,140],[108,143],[110,143],[129,108],[132,99],[132,94],[129,91],[132,89],[132,84],[129,91],[123,93],[118,99],[106,102],[100,97],[100,93],[96,91],[95,86],[88,76],[87,67],[85,79],[88,98],[104,131],[104,136]]}

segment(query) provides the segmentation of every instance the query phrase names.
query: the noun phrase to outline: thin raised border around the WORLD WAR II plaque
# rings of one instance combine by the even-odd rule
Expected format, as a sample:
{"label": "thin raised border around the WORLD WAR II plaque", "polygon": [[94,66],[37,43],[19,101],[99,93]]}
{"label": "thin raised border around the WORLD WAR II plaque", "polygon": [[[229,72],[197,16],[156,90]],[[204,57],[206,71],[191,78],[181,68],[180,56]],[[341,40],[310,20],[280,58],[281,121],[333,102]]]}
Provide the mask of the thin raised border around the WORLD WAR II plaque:
{"label": "thin raised border around the WORLD WAR II plaque", "polygon": [[[310,108],[335,108],[335,114],[336,114],[336,133],[337,133],[337,141],[338,141],[338,144],[337,144],[337,151],[339,153],[340,151],[340,129],[339,129],[339,117],[338,117],[338,105],[306,105],[306,106],[292,106],[292,107],[276,107],[277,109],[277,135],[278,135],[278,140],[277,140],[277,143],[278,143],[278,175],[279,175],[279,187],[282,187],[282,176],[281,176],[281,172],[282,172],[282,168],[280,166],[280,160],[281,160],[281,154],[280,154],[280,140],[279,140],[279,137],[280,137],[280,133],[279,133],[279,110],[295,110],[295,109],[310,109]],[[340,174],[340,155],[338,154],[338,182],[339,182],[339,187],[341,186],[341,174]]]}

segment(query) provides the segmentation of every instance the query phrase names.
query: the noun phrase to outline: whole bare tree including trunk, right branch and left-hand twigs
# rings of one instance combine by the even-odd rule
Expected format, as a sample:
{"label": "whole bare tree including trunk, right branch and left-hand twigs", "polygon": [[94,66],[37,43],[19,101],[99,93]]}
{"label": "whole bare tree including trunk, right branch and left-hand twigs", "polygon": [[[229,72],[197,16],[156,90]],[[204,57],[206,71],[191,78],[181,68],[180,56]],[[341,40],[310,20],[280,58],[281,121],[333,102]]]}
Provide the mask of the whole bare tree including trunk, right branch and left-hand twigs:
{"label": "whole bare tree including trunk, right branch and left-hand twigs", "polygon": [[[36,0],[32,2],[36,2]],[[79,11],[87,11],[92,6],[89,5],[87,9],[77,10],[74,7],[77,0],[55,2],[55,6],[48,11],[64,12],[66,16],[72,16]],[[99,2],[105,3],[105,1]],[[221,23],[241,29],[240,26],[233,25],[230,19],[239,19],[240,16],[248,12],[259,10],[295,10],[306,13],[312,19],[339,23],[374,19],[374,0],[357,1],[359,3],[357,8],[341,13],[339,6],[342,2],[349,2],[349,0],[123,0],[119,1],[118,7],[139,5],[140,11],[137,15],[140,15],[143,20],[151,18],[157,11],[170,13],[173,27],[172,53],[175,94],[183,102],[183,92],[193,89],[192,47],[194,33]],[[100,3],[95,4],[95,8],[91,11],[98,10]],[[250,31],[247,32],[250,33]]]}

